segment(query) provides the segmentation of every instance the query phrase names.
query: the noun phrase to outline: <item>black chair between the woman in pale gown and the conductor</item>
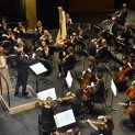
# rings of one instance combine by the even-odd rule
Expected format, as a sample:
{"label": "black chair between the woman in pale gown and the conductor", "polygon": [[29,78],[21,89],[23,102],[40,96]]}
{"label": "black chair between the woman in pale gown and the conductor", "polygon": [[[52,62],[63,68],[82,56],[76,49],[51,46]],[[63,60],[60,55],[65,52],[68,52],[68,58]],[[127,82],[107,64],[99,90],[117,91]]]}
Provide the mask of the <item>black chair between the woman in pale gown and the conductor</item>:
{"label": "black chair between the woman in pale gown and the conductor", "polygon": [[12,72],[10,78],[12,78],[14,80],[15,80],[14,69],[16,68],[16,57],[18,57],[16,54],[12,54],[12,55],[9,55],[5,57],[9,70],[11,70],[10,72]]}

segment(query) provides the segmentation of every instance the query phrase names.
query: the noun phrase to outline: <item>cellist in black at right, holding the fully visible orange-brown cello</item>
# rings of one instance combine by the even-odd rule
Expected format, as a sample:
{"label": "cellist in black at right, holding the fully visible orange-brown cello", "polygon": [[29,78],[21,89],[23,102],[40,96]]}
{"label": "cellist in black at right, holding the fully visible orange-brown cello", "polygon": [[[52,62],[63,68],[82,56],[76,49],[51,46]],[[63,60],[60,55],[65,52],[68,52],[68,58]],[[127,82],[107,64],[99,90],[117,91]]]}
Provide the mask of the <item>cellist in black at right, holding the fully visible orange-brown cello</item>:
{"label": "cellist in black at right, holding the fully visible orange-brown cello", "polygon": [[114,76],[114,82],[119,91],[124,91],[126,89],[126,79],[125,77],[132,77],[132,72],[134,72],[134,54],[128,55],[128,60],[126,64],[120,68],[120,72]]}

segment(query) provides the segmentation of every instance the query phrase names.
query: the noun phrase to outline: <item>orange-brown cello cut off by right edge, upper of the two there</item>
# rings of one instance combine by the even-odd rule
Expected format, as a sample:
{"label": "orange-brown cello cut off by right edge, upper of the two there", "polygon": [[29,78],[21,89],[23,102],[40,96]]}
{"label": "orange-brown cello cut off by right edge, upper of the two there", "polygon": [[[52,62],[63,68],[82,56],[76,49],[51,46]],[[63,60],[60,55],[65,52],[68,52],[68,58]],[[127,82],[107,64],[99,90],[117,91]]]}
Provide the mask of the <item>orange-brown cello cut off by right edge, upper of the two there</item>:
{"label": "orange-brown cello cut off by right edge, upper of the two there", "polygon": [[126,90],[126,97],[130,98],[130,100],[135,99],[135,86],[131,86],[131,87]]}

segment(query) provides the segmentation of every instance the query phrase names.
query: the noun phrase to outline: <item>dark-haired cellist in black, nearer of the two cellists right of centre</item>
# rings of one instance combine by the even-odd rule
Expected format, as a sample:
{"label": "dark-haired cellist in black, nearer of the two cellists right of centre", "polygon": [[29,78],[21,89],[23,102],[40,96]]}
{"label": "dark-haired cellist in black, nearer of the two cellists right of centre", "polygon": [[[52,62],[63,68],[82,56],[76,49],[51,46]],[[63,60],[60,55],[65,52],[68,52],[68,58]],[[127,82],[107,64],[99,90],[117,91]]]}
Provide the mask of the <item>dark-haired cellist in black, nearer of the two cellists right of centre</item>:
{"label": "dark-haired cellist in black, nearer of the two cellists right of centre", "polygon": [[95,83],[91,82],[91,86],[88,86],[88,90],[90,91],[90,94],[87,94],[87,97],[85,97],[85,93],[88,90],[83,90],[83,94],[81,97],[83,104],[89,108],[90,112],[92,109],[91,102],[97,102],[99,100],[104,99],[103,74],[101,71],[98,71],[95,74],[95,79],[97,79]]}

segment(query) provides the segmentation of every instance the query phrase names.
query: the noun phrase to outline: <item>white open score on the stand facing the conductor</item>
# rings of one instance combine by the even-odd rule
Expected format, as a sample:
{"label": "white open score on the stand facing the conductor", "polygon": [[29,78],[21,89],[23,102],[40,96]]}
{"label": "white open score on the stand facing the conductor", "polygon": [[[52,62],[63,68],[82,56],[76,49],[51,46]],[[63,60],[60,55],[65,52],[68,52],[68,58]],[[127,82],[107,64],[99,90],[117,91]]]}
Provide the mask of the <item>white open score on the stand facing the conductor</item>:
{"label": "white open score on the stand facing the conductor", "polygon": [[40,75],[40,74],[43,74],[43,72],[46,72],[47,69],[44,67],[44,65],[42,63],[37,63],[37,64],[34,64],[32,66],[30,66],[30,68],[36,74],[36,75]]}

